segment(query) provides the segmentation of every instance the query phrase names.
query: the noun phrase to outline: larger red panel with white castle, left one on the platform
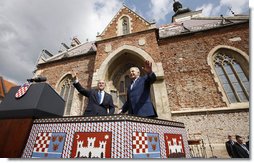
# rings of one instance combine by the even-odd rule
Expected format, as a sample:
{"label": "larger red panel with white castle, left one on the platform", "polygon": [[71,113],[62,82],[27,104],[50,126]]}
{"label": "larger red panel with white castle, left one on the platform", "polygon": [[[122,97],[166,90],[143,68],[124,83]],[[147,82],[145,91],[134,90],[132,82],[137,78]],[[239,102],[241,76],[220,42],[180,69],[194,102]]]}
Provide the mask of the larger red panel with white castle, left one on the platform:
{"label": "larger red panel with white castle, left one on the platform", "polygon": [[74,134],[72,158],[111,158],[111,132],[77,132]]}

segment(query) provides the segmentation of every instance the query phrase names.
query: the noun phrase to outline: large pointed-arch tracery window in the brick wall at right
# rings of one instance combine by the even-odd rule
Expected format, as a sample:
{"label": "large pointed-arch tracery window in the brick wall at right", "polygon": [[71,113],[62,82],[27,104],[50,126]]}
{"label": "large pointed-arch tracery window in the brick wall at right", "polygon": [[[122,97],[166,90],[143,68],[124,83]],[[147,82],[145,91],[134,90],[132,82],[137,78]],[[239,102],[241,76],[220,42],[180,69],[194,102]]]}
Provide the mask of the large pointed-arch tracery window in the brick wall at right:
{"label": "large pointed-arch tracery window in the brick wall at right", "polygon": [[219,52],[214,55],[215,72],[229,103],[249,101],[249,77],[237,59],[230,53]]}

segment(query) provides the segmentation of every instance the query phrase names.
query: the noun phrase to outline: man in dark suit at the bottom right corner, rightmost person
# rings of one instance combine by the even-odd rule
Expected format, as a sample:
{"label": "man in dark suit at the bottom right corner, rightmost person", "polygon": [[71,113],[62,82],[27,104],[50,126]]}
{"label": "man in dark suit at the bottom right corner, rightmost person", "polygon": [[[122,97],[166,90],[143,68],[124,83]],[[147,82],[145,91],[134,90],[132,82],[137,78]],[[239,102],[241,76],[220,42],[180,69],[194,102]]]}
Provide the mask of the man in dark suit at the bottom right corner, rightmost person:
{"label": "man in dark suit at the bottom right corner, rightmost person", "polygon": [[236,135],[236,143],[233,145],[233,158],[249,158],[249,150],[243,144],[241,136]]}

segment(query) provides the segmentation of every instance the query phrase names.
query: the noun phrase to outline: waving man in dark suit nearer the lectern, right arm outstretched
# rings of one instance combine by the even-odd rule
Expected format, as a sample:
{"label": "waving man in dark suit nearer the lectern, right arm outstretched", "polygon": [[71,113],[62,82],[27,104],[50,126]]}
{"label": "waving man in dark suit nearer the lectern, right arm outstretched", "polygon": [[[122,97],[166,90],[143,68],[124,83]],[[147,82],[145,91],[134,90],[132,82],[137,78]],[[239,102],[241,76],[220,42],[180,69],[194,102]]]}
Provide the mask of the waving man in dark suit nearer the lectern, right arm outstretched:
{"label": "waving man in dark suit nearer the lectern, right arm outstretched", "polygon": [[88,98],[87,108],[84,115],[112,115],[115,112],[115,106],[110,94],[104,91],[106,83],[104,80],[99,80],[97,89],[87,90],[78,82],[75,75],[74,87],[84,96]]}

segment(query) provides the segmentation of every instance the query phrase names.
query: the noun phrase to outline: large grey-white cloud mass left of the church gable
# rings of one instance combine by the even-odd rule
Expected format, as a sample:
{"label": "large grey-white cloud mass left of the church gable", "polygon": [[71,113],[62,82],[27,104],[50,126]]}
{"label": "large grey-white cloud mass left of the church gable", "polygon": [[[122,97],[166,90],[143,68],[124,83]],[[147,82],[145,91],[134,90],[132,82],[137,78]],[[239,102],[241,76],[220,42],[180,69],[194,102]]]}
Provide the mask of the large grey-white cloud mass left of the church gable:
{"label": "large grey-white cloud mass left of the church gable", "polygon": [[122,6],[120,0],[1,0],[0,75],[22,84],[43,49],[96,39]]}

